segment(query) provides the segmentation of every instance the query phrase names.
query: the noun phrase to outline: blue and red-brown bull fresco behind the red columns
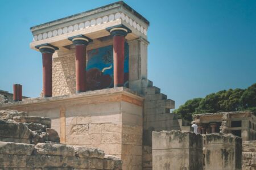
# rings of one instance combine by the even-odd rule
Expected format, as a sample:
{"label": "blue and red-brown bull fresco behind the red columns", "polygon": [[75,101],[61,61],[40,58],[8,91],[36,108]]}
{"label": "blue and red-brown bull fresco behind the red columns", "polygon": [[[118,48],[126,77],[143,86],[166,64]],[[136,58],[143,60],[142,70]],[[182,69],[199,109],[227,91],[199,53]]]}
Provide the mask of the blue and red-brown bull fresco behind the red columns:
{"label": "blue and red-brown bull fresco behind the red columns", "polygon": [[[100,90],[114,87],[113,75],[113,46],[87,51],[88,62],[86,64],[87,90]],[[129,79],[129,46],[125,43],[124,86],[128,87]]]}

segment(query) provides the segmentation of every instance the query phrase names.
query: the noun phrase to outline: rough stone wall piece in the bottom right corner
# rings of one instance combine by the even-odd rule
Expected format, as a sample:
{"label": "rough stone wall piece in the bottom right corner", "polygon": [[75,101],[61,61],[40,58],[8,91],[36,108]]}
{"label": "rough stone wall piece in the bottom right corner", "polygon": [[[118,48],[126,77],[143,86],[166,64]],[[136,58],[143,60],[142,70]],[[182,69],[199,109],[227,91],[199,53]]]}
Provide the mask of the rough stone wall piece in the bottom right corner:
{"label": "rough stone wall piece in the bottom right corner", "polygon": [[243,141],[242,169],[256,169],[256,141]]}

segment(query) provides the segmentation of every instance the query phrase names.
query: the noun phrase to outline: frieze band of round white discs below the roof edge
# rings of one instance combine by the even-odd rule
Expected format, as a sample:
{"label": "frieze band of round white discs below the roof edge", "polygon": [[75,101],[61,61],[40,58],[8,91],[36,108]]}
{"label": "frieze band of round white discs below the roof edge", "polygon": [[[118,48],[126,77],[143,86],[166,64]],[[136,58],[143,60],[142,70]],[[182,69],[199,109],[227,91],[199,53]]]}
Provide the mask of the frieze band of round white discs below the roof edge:
{"label": "frieze band of round white discs below the roof edge", "polygon": [[62,27],[62,28],[54,29],[52,31],[34,35],[33,41],[49,39],[51,37],[64,35],[66,33],[75,32],[75,31],[78,31],[81,29],[94,27],[96,25],[101,25],[101,24],[105,24],[108,22],[113,22],[114,20],[119,20],[119,19],[122,19],[126,23],[130,24],[131,27],[133,27],[134,29],[137,29],[143,35],[147,36],[146,28],[142,27],[140,24],[138,24],[138,22],[136,22],[134,19],[130,18],[123,12],[116,12],[115,14],[105,15],[105,16],[99,17],[97,19],[87,20],[86,22],[80,22],[80,23],[69,25],[67,27]]}

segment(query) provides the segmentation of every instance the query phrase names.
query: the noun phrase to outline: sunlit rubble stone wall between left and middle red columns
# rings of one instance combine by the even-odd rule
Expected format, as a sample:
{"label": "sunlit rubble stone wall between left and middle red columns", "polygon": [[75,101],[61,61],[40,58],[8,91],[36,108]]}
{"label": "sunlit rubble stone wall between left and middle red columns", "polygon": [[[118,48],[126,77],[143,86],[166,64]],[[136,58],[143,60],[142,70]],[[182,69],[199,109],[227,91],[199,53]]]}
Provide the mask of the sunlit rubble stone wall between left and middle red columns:
{"label": "sunlit rubble stone wall between left and middle red columns", "polygon": [[75,50],[53,54],[52,96],[76,93]]}

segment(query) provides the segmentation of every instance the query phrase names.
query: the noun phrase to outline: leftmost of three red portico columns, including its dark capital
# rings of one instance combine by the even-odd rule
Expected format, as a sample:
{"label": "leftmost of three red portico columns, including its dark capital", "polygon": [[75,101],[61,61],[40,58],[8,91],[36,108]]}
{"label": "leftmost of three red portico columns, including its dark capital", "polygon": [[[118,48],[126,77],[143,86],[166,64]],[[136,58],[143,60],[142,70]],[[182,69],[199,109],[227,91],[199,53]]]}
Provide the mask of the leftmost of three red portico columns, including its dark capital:
{"label": "leftmost of three red portico columns, including its dark capital", "polygon": [[52,96],[52,54],[58,50],[51,44],[42,44],[35,46],[42,53],[43,58],[43,96]]}

